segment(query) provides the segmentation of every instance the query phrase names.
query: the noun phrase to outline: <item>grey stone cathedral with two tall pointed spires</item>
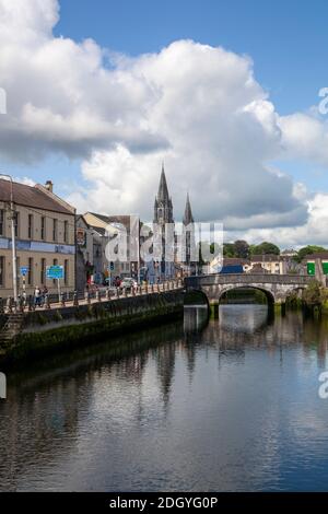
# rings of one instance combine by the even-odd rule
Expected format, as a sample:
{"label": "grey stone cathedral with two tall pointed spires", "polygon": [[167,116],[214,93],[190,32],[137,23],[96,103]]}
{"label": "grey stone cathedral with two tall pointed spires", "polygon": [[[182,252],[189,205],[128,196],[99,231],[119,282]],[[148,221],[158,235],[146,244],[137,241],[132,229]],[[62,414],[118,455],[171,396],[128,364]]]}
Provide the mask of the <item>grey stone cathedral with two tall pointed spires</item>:
{"label": "grey stone cathedral with two tall pointed spires", "polygon": [[[174,217],[173,217],[173,203],[172,198],[168,194],[167,182],[165,176],[164,164],[162,165],[161,178],[159,192],[155,197],[154,202],[154,224],[161,231],[161,258],[154,262],[156,279],[165,280],[174,278],[177,274],[191,274],[195,270],[195,262],[191,261],[191,248],[195,245],[195,233],[194,233],[194,217],[191,211],[191,205],[189,195],[187,195],[185,214],[183,220],[183,234],[181,244],[184,245],[183,260],[177,259],[177,235],[174,231]],[[173,224],[173,244],[171,245],[171,252],[173,253],[172,259],[165,259],[165,249],[167,250],[165,240],[165,225],[167,223]],[[188,230],[186,230],[188,226]],[[191,227],[191,231],[190,231]],[[167,233],[166,233],[167,234]]]}

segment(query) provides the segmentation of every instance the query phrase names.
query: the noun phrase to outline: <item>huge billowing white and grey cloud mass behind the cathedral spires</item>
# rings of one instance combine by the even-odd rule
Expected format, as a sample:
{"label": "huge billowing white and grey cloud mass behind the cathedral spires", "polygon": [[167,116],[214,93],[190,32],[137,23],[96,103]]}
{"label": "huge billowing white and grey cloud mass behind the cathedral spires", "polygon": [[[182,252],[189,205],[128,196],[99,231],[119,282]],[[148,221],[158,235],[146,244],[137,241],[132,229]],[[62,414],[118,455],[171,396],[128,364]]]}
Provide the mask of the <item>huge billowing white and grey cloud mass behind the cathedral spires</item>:
{"label": "huge billowing white and grey cloud mass behind the cathedral spires", "polygon": [[58,17],[56,0],[0,0],[0,153],[82,159],[90,187],[69,198],[81,210],[149,218],[164,160],[177,218],[189,190],[195,217],[229,230],[307,226],[304,186],[269,163],[328,164],[327,127],[280,117],[248,57],[179,40],[129,58],[54,37]]}

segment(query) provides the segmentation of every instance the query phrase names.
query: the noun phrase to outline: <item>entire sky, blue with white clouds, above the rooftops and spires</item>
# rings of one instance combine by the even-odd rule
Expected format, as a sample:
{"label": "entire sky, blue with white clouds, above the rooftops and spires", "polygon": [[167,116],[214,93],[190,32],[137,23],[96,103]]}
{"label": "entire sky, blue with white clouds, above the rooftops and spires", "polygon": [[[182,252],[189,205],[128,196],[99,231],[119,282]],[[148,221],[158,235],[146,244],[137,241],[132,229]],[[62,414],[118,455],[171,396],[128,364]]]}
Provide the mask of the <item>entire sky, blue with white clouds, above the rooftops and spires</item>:
{"label": "entire sky, blue with white clouds, above the rooftops and spires", "polygon": [[328,245],[327,2],[161,3],[0,0],[1,167],[149,220],[164,161],[176,220]]}

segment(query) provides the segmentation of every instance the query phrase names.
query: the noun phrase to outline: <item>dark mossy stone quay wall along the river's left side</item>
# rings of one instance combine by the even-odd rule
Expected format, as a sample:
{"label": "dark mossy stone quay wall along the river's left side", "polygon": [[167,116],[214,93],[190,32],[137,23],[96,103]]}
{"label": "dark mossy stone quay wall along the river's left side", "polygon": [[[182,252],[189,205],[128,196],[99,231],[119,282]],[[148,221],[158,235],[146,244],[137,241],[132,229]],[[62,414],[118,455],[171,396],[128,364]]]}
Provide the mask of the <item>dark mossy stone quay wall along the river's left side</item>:
{"label": "dark mossy stone quay wall along the river's left side", "polygon": [[[28,360],[96,344],[121,335],[178,319],[184,313],[183,290],[103,301],[90,305],[40,309],[13,315],[16,334],[2,340],[0,364]],[[7,316],[7,323],[10,316]]]}

